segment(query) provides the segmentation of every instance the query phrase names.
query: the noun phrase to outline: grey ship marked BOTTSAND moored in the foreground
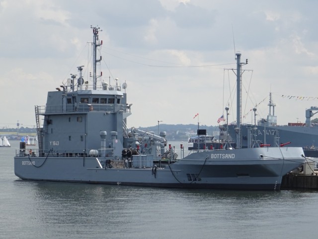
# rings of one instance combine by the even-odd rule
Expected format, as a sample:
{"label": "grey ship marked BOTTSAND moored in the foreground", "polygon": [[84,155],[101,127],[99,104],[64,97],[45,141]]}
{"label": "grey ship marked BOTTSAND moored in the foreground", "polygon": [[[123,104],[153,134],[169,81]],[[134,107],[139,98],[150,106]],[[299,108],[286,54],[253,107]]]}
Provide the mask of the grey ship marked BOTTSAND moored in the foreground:
{"label": "grey ship marked BOTTSAND moored in the foreground", "polygon": [[[79,79],[48,92],[46,106],[35,106],[38,150],[20,148],[14,173],[23,180],[179,188],[279,190],[282,177],[305,163],[301,147],[197,150],[178,159],[160,135],[127,126],[131,105],[127,84],[97,86],[99,27],[93,30],[92,84]],[[237,75],[240,85],[240,53]],[[240,89],[240,88],[239,88]],[[240,107],[240,106],[239,106]],[[239,112],[239,110],[238,110]],[[43,125],[40,117],[44,117]],[[145,115],[140,116],[140,119]],[[238,114],[240,120],[240,114]],[[238,122],[239,122],[238,120]],[[181,145],[182,147],[182,145]]]}

